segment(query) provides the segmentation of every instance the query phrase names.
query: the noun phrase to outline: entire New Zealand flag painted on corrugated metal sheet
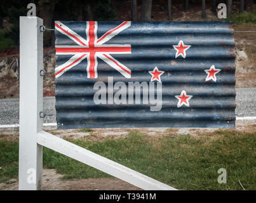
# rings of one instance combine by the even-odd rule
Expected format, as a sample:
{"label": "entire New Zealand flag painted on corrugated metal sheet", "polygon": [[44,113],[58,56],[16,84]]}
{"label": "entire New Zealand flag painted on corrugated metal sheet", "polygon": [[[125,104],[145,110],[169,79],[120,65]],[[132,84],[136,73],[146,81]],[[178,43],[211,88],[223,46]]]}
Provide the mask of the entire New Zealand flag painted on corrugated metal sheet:
{"label": "entire New Zealand flag painted on corrugated metal sheet", "polygon": [[58,128],[234,128],[229,22],[55,22]]}

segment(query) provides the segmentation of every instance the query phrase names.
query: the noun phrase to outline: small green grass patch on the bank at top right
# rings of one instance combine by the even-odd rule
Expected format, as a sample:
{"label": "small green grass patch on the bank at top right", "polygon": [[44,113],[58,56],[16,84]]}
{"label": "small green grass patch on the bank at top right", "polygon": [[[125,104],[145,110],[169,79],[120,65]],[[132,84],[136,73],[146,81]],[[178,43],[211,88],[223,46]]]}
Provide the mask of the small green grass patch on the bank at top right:
{"label": "small green grass patch on the bank at top right", "polygon": [[241,24],[255,24],[256,23],[256,11],[253,12],[245,12],[241,14],[233,14],[229,18],[229,20],[232,21],[232,23],[236,25]]}

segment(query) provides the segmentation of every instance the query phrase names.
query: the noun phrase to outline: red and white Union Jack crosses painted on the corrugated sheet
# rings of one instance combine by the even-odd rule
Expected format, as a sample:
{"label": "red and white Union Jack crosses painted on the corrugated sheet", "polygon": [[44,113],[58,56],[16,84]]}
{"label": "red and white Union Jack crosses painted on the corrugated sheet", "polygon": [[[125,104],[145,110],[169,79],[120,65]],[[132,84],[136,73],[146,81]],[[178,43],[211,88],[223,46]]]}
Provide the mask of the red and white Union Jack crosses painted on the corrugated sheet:
{"label": "red and white Union Jack crosses painted on the corrugated sheet", "polygon": [[64,23],[59,21],[55,22],[55,29],[72,39],[77,44],[76,46],[56,46],[57,55],[74,55],[67,62],[55,69],[56,77],[64,74],[64,72],[83,61],[84,58],[87,58],[87,77],[97,78],[97,58],[99,57],[105,63],[118,70],[118,72],[120,72],[126,78],[130,78],[131,70],[122,63],[118,62],[118,60],[113,58],[111,54],[130,54],[131,45],[104,44],[105,42],[112,39],[112,37],[119,34],[119,32],[127,29],[130,26],[131,22],[125,21],[118,25],[118,27],[107,31],[102,37],[98,39],[97,22],[89,21],[86,22],[86,39],[84,39],[83,37],[79,36],[79,34],[69,29],[69,27],[65,26]]}

